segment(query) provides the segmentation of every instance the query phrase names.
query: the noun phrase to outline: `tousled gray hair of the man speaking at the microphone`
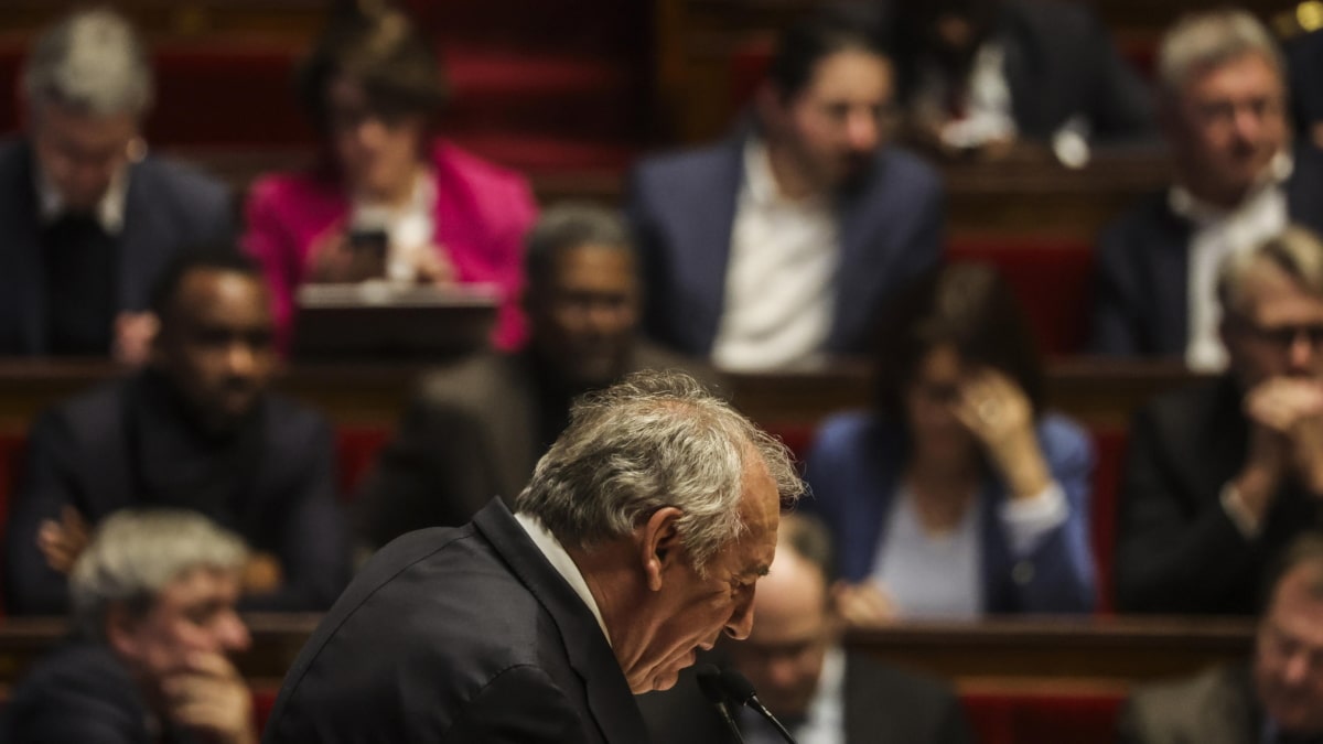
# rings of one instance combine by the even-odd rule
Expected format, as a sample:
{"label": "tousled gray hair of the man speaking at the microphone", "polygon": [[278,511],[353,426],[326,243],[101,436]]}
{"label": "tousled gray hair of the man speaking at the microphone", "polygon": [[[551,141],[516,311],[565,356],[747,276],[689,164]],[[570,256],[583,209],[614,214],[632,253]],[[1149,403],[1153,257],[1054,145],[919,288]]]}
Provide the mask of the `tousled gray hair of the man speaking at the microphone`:
{"label": "tousled gray hair of the man speaking at the microphone", "polygon": [[785,445],[683,372],[635,372],[589,393],[538,461],[516,510],[568,547],[591,549],[676,507],[693,567],[737,540],[745,473],[761,462],[783,504],[804,491]]}

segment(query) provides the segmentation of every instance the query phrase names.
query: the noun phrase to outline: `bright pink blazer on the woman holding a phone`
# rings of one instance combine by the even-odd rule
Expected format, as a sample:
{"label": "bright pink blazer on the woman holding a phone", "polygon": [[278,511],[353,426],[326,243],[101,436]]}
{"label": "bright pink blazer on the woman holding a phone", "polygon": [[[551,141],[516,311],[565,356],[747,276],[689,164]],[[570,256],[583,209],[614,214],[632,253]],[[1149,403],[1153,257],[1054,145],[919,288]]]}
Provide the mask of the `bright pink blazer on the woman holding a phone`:
{"label": "bright pink blazer on the woman holding a phone", "polygon": [[[527,336],[520,311],[524,233],[537,218],[528,180],[443,140],[433,148],[433,169],[435,244],[445,248],[460,282],[500,287],[492,342],[497,348],[519,348]],[[294,293],[304,279],[308,252],[348,217],[348,195],[337,180],[316,171],[273,173],[253,184],[245,212],[243,248],[262,265],[280,347],[288,348]]]}

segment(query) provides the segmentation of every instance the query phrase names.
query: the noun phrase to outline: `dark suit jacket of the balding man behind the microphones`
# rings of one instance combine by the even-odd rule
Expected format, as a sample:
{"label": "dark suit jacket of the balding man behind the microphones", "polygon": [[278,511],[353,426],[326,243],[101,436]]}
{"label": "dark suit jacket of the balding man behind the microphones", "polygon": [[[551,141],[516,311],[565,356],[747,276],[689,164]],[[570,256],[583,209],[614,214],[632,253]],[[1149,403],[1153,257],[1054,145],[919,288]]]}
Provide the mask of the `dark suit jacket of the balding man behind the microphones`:
{"label": "dark suit jacket of the balding man behind the microphones", "polygon": [[[851,653],[845,657],[844,695],[845,744],[974,741],[959,699],[935,679]],[[699,691],[692,669],[681,673],[671,690],[640,695],[639,708],[652,740],[659,744],[732,741],[726,724]]]}

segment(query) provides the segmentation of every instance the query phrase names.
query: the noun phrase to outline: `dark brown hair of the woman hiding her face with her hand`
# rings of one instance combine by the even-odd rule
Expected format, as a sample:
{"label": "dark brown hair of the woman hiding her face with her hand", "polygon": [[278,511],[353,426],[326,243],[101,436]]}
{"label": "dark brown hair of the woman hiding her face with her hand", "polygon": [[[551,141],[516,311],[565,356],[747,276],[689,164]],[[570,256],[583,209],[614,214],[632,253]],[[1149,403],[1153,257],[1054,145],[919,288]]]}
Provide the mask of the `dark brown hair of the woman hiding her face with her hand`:
{"label": "dark brown hair of the woman hiding her face with her hand", "polygon": [[905,389],[929,352],[1007,375],[1043,410],[1043,363],[1028,319],[1002,274],[987,263],[946,263],[922,274],[882,312],[877,335],[877,406],[904,421]]}

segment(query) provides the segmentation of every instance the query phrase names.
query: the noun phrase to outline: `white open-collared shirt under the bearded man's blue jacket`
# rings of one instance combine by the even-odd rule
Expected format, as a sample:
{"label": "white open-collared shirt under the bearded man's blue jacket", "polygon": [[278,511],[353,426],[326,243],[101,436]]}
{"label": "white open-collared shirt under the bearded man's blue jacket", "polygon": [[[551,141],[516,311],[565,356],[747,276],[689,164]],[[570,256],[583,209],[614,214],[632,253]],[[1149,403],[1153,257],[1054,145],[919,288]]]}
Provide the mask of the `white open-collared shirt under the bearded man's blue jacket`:
{"label": "white open-collared shirt under the bearded man's blue jacket", "polygon": [[832,201],[782,196],[757,138],[744,165],[712,360],[736,371],[802,363],[831,332],[840,259]]}

